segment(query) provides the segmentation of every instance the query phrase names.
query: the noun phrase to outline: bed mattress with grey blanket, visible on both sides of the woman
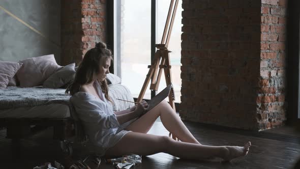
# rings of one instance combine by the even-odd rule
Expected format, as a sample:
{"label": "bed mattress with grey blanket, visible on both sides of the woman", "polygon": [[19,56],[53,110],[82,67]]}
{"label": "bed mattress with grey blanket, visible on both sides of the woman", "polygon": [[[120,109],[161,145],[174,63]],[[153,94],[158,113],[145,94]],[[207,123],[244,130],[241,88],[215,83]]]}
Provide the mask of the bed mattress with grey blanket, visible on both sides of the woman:
{"label": "bed mattress with grey blanket, visible on both sides of the woman", "polygon": [[[109,85],[108,88],[114,111],[134,105],[116,100],[133,101],[130,91],[124,85]],[[70,96],[65,95],[65,89],[8,87],[0,90],[0,118],[69,118],[74,115],[69,108],[69,99]]]}

